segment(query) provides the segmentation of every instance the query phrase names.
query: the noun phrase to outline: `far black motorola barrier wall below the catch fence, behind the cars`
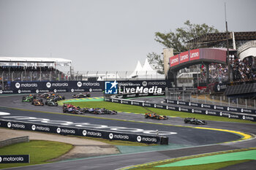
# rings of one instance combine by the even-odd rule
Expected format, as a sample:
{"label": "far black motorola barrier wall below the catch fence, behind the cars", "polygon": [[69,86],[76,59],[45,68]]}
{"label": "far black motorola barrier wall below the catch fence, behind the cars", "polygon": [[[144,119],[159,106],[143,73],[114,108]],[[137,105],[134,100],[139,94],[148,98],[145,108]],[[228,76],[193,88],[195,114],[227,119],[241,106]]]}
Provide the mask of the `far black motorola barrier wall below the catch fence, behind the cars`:
{"label": "far black motorola barrier wall below the catch fence, behind the cars", "polygon": [[[110,81],[15,81],[0,90],[0,94],[8,93],[64,93],[64,92],[102,92],[105,83]],[[169,80],[124,80],[117,81],[118,88],[128,90],[130,88],[143,90],[143,88],[154,88],[165,90],[170,85]],[[124,89],[123,89],[124,90]]]}

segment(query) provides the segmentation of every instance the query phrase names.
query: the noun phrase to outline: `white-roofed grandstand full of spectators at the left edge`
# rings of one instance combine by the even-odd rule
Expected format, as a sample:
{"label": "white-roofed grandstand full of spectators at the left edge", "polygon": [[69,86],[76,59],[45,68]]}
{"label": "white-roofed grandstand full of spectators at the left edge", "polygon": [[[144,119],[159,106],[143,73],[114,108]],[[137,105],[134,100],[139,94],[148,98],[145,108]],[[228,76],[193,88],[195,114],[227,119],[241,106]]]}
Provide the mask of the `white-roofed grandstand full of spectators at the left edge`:
{"label": "white-roofed grandstand full of spectators at the left edge", "polygon": [[8,89],[12,81],[67,80],[71,66],[64,58],[0,57],[0,89]]}

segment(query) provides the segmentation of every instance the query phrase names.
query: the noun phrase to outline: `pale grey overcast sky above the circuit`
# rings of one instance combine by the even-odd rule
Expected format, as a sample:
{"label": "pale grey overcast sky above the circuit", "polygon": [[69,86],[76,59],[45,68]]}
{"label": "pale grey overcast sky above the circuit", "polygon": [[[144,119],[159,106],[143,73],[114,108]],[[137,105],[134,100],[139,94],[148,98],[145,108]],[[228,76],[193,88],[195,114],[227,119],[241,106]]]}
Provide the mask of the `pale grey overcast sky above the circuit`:
{"label": "pale grey overcast sky above the circuit", "polygon": [[256,31],[255,0],[0,0],[0,56],[72,60],[75,72],[132,71],[161,54],[155,32],[191,23]]}

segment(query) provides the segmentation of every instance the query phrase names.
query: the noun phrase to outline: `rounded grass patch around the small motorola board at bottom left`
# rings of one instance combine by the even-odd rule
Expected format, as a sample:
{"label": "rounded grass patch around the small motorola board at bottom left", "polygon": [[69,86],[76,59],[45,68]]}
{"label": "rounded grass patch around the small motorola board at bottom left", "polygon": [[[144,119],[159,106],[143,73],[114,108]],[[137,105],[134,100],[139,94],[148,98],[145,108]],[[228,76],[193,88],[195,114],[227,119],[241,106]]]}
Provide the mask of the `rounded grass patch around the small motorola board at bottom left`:
{"label": "rounded grass patch around the small motorola board at bottom left", "polygon": [[72,147],[72,144],[41,140],[31,140],[30,142],[1,147],[1,155],[30,155],[30,163],[1,163],[0,169],[49,163],[49,160],[64,155]]}

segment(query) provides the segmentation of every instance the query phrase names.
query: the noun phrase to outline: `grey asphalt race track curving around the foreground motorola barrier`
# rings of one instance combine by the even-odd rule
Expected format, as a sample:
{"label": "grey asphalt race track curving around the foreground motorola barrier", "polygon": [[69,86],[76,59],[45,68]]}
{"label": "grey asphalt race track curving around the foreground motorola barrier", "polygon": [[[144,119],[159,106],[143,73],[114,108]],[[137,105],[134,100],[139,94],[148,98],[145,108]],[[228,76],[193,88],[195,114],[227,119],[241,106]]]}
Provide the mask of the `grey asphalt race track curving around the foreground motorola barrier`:
{"label": "grey asphalt race track curving around the foreground motorola barrier", "polygon": [[[71,97],[71,93],[64,93],[67,98]],[[92,93],[92,96],[102,96],[102,93]],[[152,152],[138,152],[131,154],[111,155],[100,158],[86,158],[76,161],[64,161],[57,163],[48,163],[38,166],[26,166],[26,169],[119,169],[125,166],[132,166],[151,161],[160,161],[164,159],[177,158],[187,155],[203,154],[207,152],[217,152],[222,150],[236,150],[241,148],[256,147],[256,140],[250,139],[244,142],[230,142],[239,139],[236,134],[230,134],[223,131],[211,131],[206,129],[178,127],[170,125],[158,125],[151,123],[159,123],[158,120],[146,120],[143,115],[118,113],[118,115],[93,115],[96,117],[111,117],[120,120],[135,120],[149,123],[138,123],[132,121],[105,120],[92,117],[76,117],[68,114],[58,115],[46,112],[61,112],[61,107],[34,107],[28,103],[21,102],[21,96],[5,96],[0,98],[0,112],[10,112],[10,117],[15,115],[23,115],[27,117],[43,117],[50,120],[68,120],[74,123],[93,123],[97,125],[108,125],[126,127],[126,128],[143,128],[145,130],[171,131],[177,134],[170,134],[170,144],[187,144],[187,148],[159,150]],[[40,110],[44,112],[24,111],[17,109],[8,109],[6,107],[16,107],[20,109]],[[92,115],[90,115],[92,116]],[[7,118],[4,118],[7,119]],[[183,119],[180,117],[171,117],[167,121],[161,121],[164,124],[184,125]],[[190,125],[195,126],[195,125]],[[250,123],[223,123],[208,121],[207,128],[228,129],[233,131],[242,131],[249,134],[256,134],[256,125]],[[243,164],[244,166],[244,164]],[[24,169],[24,167],[15,168]]]}

